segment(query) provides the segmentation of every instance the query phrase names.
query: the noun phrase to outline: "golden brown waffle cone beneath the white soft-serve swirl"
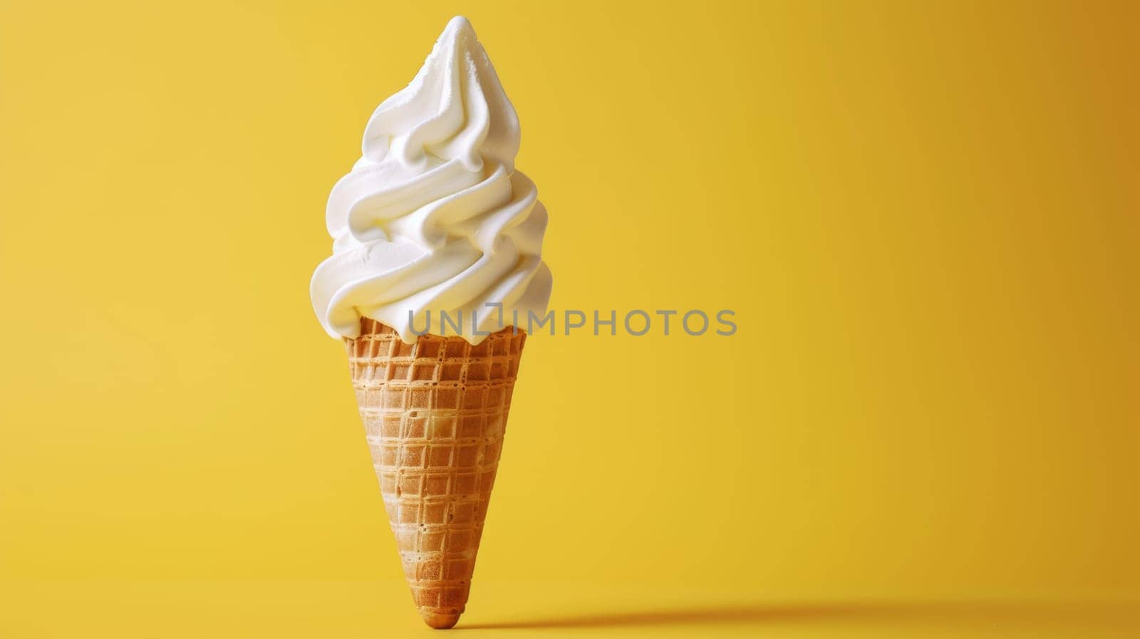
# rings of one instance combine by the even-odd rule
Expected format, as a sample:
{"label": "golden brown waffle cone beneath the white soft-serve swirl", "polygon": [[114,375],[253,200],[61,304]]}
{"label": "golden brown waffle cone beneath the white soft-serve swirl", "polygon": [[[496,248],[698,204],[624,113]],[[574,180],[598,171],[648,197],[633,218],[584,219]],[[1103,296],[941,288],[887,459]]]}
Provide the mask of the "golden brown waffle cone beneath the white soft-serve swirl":
{"label": "golden brown waffle cone beneath the white soft-serve swirl", "polygon": [[405,344],[375,320],[360,328],[345,341],[349,368],[404,574],[424,622],[451,628],[471,590],[527,334]]}

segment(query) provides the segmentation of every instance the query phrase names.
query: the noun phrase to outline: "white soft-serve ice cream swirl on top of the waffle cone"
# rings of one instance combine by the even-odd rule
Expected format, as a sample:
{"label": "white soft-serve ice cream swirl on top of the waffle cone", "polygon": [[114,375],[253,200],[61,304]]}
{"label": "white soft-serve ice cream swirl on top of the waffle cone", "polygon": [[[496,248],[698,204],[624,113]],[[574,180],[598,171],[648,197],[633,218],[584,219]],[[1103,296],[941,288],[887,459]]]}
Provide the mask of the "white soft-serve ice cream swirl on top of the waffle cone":
{"label": "white soft-serve ice cream swirl on top of the waffle cone", "polygon": [[546,208],[514,170],[519,117],[466,18],[376,108],[363,147],[328,196],[333,255],[310,286],[329,335],[357,337],[363,316],[408,343],[426,330],[478,344],[546,312]]}

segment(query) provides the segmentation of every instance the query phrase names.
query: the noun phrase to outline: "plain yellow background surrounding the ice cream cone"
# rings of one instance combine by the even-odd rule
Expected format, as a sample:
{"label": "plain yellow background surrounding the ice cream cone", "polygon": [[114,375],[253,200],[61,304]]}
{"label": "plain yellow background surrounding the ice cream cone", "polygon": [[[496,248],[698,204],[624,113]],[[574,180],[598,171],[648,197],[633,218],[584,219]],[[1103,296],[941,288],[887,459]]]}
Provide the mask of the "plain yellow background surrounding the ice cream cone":
{"label": "plain yellow background surrounding the ice cream cone", "polygon": [[308,282],[459,13],[552,308],[740,327],[530,341],[461,625],[1135,631],[1134,5],[2,0],[0,636],[420,632]]}

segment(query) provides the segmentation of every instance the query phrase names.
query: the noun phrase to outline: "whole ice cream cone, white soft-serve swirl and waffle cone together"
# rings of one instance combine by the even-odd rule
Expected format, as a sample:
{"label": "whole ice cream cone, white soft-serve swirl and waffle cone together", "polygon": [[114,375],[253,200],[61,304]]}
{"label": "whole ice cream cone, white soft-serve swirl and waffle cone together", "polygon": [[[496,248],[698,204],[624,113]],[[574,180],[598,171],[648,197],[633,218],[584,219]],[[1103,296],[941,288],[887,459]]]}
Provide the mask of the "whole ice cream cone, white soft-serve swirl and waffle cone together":
{"label": "whole ice cream cone, white soft-serve swirl and waffle cone together", "polygon": [[347,343],[384,508],[432,628],[455,625],[467,601],[527,338],[484,331],[547,317],[547,214],[514,165],[519,142],[486,49],[451,18],[368,118],[360,158],[328,194],[333,254],[309,284],[321,327]]}

